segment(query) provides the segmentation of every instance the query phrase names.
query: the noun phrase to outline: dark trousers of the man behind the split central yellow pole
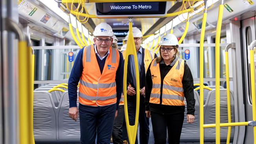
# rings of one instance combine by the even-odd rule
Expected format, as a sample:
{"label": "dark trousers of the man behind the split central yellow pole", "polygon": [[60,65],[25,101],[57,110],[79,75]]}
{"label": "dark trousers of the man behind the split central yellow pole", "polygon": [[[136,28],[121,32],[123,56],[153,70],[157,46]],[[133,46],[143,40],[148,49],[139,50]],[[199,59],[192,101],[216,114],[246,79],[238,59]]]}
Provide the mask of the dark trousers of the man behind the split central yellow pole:
{"label": "dark trousers of the man behind the split central yellow pole", "polygon": [[[135,96],[134,96],[135,97]],[[149,138],[149,120],[145,114],[145,98],[140,96],[139,104],[139,142],[140,144],[148,144]],[[128,115],[129,123],[131,126],[135,124],[135,113],[136,113],[136,101],[128,100]],[[138,144],[138,138],[136,136],[135,144]]]}

